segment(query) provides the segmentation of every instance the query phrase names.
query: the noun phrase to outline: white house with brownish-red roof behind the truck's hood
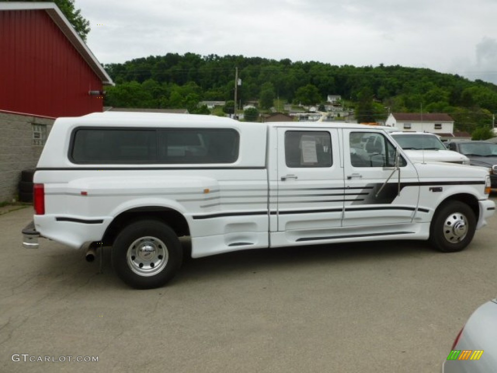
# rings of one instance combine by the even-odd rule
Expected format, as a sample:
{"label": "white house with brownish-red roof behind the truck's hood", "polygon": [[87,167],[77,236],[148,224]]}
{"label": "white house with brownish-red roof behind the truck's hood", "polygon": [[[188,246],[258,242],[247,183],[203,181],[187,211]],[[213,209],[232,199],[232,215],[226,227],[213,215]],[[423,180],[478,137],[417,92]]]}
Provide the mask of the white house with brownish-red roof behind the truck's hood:
{"label": "white house with brownish-red roof behind the truck's hood", "polygon": [[442,137],[454,133],[454,119],[445,113],[391,113],[385,125],[401,131],[431,132]]}

